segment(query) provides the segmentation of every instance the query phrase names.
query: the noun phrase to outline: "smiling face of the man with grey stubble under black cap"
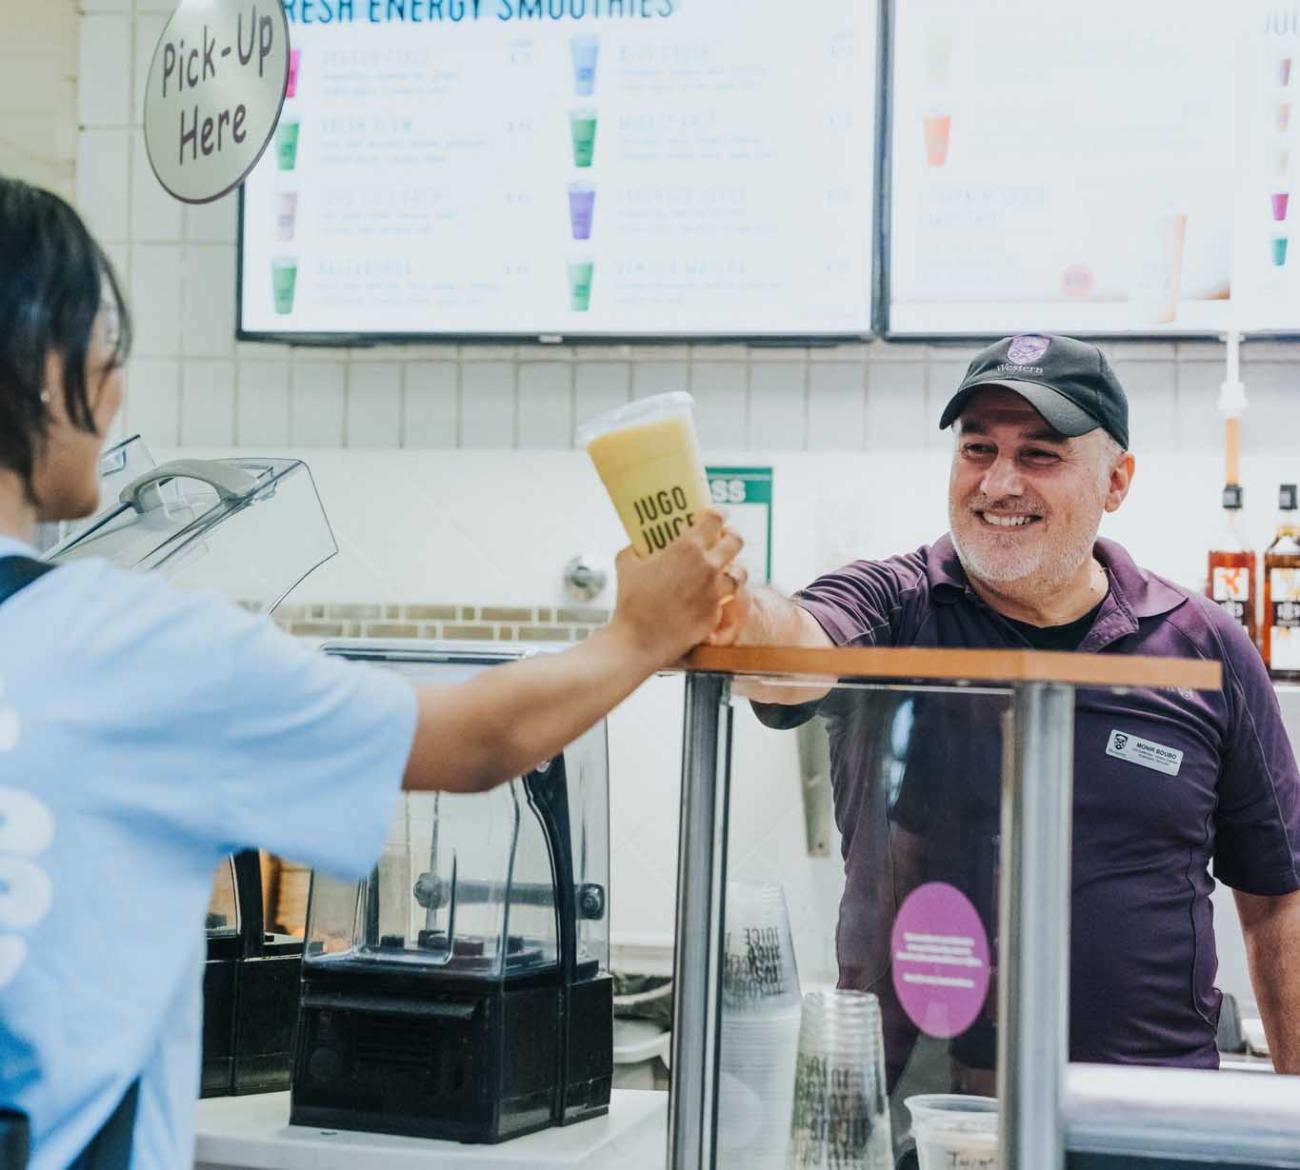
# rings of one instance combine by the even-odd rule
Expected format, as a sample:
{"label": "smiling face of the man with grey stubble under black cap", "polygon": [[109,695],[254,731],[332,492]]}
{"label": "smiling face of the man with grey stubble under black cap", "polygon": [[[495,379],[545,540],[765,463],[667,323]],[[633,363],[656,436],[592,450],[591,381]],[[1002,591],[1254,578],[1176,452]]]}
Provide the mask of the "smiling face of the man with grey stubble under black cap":
{"label": "smiling face of the man with grey stubble under black cap", "polygon": [[1092,555],[1105,511],[1119,506],[1105,432],[1066,438],[1019,394],[991,386],[957,424],[948,488],[953,543],[966,572],[993,586],[1060,586]]}

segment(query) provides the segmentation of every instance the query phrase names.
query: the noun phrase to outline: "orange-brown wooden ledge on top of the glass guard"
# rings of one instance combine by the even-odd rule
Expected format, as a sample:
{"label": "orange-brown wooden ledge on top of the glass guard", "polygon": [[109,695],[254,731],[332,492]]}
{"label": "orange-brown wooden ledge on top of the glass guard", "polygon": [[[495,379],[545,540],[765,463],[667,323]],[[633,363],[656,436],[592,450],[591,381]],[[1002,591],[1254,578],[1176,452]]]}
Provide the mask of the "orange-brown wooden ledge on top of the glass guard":
{"label": "orange-brown wooden ledge on top of the glass guard", "polygon": [[1219,690],[1223,668],[1205,658],[1061,654],[1048,650],[935,650],[863,646],[699,646],[681,670],[729,675],[818,675],[927,682],[1069,682],[1075,686],[1180,686]]}

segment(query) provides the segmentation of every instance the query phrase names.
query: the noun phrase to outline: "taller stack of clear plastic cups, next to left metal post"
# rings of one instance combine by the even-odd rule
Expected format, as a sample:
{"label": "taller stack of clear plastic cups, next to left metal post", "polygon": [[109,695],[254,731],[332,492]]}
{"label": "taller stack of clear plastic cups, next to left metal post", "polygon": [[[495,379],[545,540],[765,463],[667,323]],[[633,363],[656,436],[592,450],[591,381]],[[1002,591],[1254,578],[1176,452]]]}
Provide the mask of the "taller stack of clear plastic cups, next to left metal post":
{"label": "taller stack of clear plastic cups, next to left metal post", "polygon": [[800,976],[779,885],[727,883],[719,1165],[780,1170],[790,1132]]}

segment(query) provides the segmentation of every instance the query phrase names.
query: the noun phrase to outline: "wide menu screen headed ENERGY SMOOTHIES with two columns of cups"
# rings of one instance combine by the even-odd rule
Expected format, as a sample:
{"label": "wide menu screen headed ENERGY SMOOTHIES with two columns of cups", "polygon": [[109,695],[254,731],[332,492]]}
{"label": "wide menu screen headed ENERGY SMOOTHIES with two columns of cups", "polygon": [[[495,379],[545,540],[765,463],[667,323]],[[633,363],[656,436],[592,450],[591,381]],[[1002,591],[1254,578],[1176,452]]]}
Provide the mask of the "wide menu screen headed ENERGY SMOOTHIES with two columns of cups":
{"label": "wide menu screen headed ENERGY SMOOTHIES with two columns of cups", "polygon": [[871,329],[875,0],[286,0],[242,335]]}

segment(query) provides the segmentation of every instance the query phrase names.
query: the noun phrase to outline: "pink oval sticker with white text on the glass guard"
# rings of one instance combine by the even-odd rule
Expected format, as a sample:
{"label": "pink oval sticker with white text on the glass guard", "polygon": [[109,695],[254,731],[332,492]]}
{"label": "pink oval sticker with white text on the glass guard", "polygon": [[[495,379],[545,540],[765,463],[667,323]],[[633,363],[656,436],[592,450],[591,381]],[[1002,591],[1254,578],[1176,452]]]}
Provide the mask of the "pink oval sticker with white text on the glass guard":
{"label": "pink oval sticker with white text on the glass guard", "polygon": [[942,881],[904,900],[889,940],[893,983],[907,1018],[927,1036],[959,1036],[988,994],[988,936],[959,889]]}

